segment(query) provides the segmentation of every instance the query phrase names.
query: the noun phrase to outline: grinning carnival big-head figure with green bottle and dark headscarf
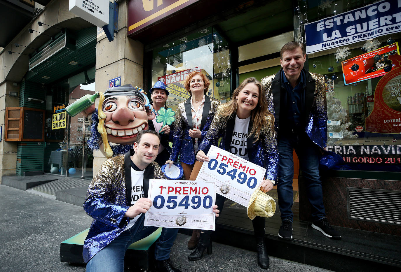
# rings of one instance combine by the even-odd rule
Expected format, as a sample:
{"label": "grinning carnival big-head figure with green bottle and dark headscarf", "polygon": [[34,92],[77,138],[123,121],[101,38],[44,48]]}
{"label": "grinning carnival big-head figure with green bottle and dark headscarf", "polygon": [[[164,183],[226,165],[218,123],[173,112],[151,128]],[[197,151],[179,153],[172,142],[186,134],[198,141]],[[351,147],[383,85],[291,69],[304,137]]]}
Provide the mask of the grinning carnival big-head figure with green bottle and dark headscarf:
{"label": "grinning carnival big-head figure with green bottle and dark headscarf", "polygon": [[[89,147],[99,149],[103,142],[102,151],[107,158],[112,157],[113,153],[126,153],[135,142],[138,132],[148,129],[148,120],[155,117],[146,93],[130,84],[112,87],[104,93],[81,97],[69,105],[66,111],[71,116],[87,111],[97,97],[99,103],[97,110],[93,108]],[[113,143],[113,147],[110,147],[109,142]]]}

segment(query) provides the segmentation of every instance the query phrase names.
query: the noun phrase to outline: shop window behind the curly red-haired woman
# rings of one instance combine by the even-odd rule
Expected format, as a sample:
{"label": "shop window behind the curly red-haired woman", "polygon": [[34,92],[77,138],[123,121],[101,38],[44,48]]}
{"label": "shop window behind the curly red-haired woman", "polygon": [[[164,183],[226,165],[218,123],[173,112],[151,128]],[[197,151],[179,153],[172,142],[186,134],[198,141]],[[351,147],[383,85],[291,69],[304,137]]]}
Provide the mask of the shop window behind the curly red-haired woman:
{"label": "shop window behind the curly red-haired woman", "polygon": [[207,95],[222,103],[229,100],[230,49],[212,28],[188,34],[153,51],[152,86],[158,80],[166,84],[170,94],[167,105],[173,110],[189,97],[184,80],[191,71],[201,71],[209,78]]}

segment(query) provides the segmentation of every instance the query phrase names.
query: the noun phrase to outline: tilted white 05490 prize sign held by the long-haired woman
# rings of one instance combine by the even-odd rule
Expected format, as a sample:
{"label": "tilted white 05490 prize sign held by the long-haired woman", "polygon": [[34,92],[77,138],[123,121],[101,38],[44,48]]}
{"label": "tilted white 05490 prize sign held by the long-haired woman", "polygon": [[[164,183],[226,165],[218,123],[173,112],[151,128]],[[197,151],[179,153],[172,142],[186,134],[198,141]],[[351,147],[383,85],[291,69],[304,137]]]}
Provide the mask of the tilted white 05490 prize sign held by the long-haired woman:
{"label": "tilted white 05490 prize sign held by the long-haired woman", "polygon": [[197,181],[216,183],[216,193],[248,207],[249,199],[265,177],[266,169],[219,147],[211,146]]}

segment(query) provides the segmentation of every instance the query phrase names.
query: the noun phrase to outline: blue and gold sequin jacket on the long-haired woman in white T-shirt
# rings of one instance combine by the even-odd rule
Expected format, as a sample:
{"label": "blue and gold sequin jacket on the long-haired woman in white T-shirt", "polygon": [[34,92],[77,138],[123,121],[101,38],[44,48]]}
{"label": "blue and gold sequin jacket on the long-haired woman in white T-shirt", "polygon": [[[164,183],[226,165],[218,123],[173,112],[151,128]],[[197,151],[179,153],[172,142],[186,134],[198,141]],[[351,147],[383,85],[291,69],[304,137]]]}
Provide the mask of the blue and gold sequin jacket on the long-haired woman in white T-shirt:
{"label": "blue and gold sequin jacket on the long-haired woman in white T-shirt", "polygon": [[[266,169],[265,179],[271,179],[277,182],[278,171],[278,152],[277,140],[273,129],[273,117],[271,115],[265,116],[267,125],[262,127],[260,136],[257,142],[254,134],[250,134],[253,122],[249,121],[247,138],[247,150],[249,161],[255,163]],[[218,140],[221,138],[219,147],[226,151],[230,151],[230,142],[233,137],[235,125],[235,115],[223,116],[220,111],[217,113],[210,125],[209,132],[205,139],[198,147],[198,151],[202,150],[207,154],[211,145],[217,146]]]}

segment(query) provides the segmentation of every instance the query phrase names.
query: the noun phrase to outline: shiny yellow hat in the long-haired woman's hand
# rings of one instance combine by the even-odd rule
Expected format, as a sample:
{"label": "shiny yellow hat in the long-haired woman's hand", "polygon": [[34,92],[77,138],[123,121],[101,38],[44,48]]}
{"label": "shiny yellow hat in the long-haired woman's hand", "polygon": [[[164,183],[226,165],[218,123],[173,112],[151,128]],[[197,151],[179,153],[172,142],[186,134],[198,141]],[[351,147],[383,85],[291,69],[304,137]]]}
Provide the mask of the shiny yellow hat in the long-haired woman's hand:
{"label": "shiny yellow hat in the long-haired woman's hand", "polygon": [[247,212],[251,220],[256,216],[272,217],[275,213],[275,201],[270,195],[257,188],[249,199]]}

